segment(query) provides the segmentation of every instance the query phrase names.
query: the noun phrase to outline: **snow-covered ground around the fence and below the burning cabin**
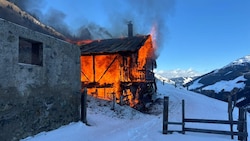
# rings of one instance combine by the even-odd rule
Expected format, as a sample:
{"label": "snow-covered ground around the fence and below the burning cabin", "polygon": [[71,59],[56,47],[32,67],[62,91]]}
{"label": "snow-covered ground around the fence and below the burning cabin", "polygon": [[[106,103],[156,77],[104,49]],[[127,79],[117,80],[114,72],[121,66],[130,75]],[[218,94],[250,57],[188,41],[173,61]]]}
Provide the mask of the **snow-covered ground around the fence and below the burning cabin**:
{"label": "snow-covered ground around the fence and below the burning cabin", "polygon": [[[169,96],[169,121],[181,120],[181,100],[185,100],[186,117],[206,119],[227,119],[227,103],[196,94],[172,85],[157,82],[158,96]],[[186,134],[162,134],[162,101],[152,108],[154,114],[143,114],[128,106],[116,105],[111,110],[111,102],[88,99],[87,120],[90,126],[82,122],[71,123],[59,129],[42,132],[21,141],[230,141],[228,135],[186,132]],[[237,120],[237,110],[234,110]],[[249,117],[249,115],[248,115]],[[228,130],[229,125],[196,124],[188,127]],[[248,131],[250,124],[248,122]],[[234,127],[236,130],[236,127]],[[180,129],[178,125],[169,129]],[[237,140],[235,136],[234,140]]]}

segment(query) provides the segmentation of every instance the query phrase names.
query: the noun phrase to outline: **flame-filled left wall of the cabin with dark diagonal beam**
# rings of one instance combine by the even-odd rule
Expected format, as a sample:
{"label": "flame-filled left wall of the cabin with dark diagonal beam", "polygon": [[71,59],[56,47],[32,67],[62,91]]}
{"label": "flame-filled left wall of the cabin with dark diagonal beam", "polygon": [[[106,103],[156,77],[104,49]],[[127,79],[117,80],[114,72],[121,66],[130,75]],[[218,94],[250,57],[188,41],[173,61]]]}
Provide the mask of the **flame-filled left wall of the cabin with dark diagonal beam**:
{"label": "flame-filled left wall of the cabin with dark diagonal beam", "polygon": [[120,56],[88,55],[81,56],[82,87],[88,94],[102,99],[112,99],[112,93],[120,93]]}

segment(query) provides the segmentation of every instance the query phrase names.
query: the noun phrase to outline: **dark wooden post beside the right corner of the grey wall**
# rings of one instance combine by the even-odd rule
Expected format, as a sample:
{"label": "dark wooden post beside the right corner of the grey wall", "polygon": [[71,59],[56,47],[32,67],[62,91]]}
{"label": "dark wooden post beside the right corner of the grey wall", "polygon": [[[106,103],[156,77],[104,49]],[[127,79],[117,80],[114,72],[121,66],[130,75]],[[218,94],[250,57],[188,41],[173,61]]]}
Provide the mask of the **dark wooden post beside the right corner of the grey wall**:
{"label": "dark wooden post beside the right corner of the grey wall", "polygon": [[81,94],[81,121],[87,124],[87,88]]}

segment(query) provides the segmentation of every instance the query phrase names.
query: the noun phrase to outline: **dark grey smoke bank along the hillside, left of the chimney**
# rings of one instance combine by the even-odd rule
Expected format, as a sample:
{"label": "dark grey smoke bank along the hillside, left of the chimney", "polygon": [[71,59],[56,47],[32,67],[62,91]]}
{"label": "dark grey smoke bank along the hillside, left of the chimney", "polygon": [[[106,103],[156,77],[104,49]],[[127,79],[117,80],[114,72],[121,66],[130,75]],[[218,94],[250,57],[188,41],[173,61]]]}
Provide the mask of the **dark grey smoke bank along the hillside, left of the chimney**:
{"label": "dark grey smoke bank along the hillside, left of the chimney", "polygon": [[36,0],[8,0],[16,4],[22,10],[28,12],[33,17],[37,18],[44,24],[53,27],[58,32],[62,33],[64,36],[71,40],[80,40],[80,39],[92,39],[88,28],[78,29],[78,34],[72,33],[70,26],[66,24],[65,18],[67,15],[63,11],[59,11],[53,7],[50,7],[45,13],[42,12],[42,9],[46,6],[46,1],[36,1]]}

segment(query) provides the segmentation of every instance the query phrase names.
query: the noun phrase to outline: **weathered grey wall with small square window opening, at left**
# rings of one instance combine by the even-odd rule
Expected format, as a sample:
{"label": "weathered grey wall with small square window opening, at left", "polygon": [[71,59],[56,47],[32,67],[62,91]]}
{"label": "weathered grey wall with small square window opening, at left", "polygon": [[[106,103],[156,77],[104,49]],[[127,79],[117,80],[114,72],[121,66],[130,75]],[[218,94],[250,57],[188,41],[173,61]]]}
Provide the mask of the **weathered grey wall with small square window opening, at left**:
{"label": "weathered grey wall with small square window opening, at left", "polygon": [[[19,38],[42,43],[42,64],[19,62]],[[14,141],[80,118],[80,50],[0,19],[0,140]]]}

